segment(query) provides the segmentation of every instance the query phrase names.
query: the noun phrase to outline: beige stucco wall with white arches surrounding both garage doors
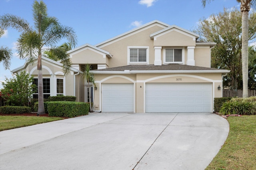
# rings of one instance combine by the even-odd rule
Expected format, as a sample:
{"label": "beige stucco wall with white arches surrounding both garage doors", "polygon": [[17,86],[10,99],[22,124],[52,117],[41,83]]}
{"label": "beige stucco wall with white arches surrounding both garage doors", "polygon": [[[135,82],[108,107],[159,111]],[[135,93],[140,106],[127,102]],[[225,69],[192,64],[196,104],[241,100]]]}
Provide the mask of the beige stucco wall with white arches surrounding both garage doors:
{"label": "beige stucco wall with white arches surrounding both garage doors", "polygon": [[[96,110],[100,110],[101,104],[101,84],[102,83],[134,83],[135,86],[135,111],[144,112],[145,105],[145,85],[147,83],[210,83],[212,84],[212,102],[215,97],[222,96],[221,73],[201,73],[201,74],[95,74],[98,89],[95,90],[94,104]],[[213,107],[213,104],[212,104]],[[213,110],[213,108],[212,108]]]}

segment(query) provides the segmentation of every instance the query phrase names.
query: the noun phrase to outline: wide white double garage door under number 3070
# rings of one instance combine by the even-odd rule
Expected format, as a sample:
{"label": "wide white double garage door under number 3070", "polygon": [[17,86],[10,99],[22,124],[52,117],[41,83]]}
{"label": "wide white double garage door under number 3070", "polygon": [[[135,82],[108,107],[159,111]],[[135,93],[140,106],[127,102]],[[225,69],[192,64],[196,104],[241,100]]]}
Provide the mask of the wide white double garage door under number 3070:
{"label": "wide white double garage door under number 3070", "polygon": [[148,83],[146,112],[211,112],[210,83]]}

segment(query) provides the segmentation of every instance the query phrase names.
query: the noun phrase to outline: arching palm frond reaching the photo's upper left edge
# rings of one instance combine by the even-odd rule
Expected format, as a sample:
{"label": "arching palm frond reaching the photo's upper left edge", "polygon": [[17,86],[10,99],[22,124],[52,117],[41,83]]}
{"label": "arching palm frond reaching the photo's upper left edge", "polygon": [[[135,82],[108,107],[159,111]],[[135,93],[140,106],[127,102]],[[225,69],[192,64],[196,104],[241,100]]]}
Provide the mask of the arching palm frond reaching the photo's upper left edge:
{"label": "arching palm frond reaching the photo's upper left edge", "polygon": [[8,27],[17,29],[19,32],[32,31],[32,27],[30,27],[28,21],[24,20],[23,18],[14,16],[12,14],[0,16],[0,28],[7,29]]}

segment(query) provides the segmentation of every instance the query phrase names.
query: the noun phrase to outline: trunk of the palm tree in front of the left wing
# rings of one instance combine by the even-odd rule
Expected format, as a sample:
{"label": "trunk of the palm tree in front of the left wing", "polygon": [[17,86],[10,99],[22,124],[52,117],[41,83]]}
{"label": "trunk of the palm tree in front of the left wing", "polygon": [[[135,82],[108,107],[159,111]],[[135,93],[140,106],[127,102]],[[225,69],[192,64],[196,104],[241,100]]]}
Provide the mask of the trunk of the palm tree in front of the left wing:
{"label": "trunk of the palm tree in front of the left wing", "polygon": [[37,70],[38,70],[38,115],[45,114],[44,111],[44,92],[43,92],[43,72],[42,72],[42,55],[38,55]]}

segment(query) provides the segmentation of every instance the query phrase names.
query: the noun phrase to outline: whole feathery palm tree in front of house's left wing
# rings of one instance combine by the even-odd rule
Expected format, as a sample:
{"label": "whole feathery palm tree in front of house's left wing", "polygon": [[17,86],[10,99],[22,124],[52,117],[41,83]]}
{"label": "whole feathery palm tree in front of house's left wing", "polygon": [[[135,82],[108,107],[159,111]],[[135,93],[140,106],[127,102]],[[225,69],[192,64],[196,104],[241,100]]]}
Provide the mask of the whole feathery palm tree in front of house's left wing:
{"label": "whole feathery palm tree in front of house's left wing", "polygon": [[[72,27],[60,25],[58,19],[47,14],[47,7],[43,1],[33,3],[34,27],[28,21],[5,14],[0,16],[0,29],[12,27],[21,32],[18,38],[17,51],[21,59],[26,59],[33,64],[37,57],[38,70],[38,115],[44,114],[43,79],[42,79],[42,51],[66,38],[72,45],[76,45],[76,34]],[[64,68],[65,69],[65,68]],[[65,72],[68,74],[68,72]]]}

